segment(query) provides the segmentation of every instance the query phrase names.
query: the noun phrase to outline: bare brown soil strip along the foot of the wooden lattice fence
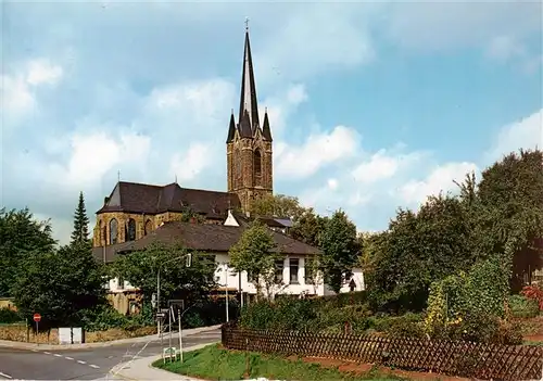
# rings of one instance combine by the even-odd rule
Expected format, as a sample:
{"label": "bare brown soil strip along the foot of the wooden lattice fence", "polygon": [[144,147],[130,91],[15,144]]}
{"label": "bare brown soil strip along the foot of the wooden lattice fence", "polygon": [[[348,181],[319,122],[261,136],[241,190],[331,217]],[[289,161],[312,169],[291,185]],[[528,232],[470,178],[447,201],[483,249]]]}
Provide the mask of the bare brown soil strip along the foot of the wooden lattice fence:
{"label": "bare brown soil strip along the foot of the wooden lattice fence", "polygon": [[[356,374],[364,374],[370,371],[374,368],[372,364],[362,364],[355,361],[346,361],[333,358],[320,358],[320,357],[304,357],[304,363],[318,364],[325,368],[337,368],[341,372],[351,372]],[[400,376],[404,378],[408,378],[412,380],[440,380],[440,381],[469,381],[470,379],[460,378],[460,377],[449,377],[438,373],[427,373],[427,372],[417,372],[417,371],[406,371],[400,369],[390,369],[387,367],[377,367],[380,373],[382,374],[393,374]]]}

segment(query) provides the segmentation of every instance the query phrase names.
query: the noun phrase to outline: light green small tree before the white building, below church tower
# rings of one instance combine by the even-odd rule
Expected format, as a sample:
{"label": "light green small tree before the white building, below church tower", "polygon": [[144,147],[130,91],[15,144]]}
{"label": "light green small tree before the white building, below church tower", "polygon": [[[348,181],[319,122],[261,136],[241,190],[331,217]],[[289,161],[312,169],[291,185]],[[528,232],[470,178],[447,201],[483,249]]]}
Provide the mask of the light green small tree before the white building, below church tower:
{"label": "light green small tree before the white building, below church tower", "polygon": [[276,263],[282,261],[269,230],[255,221],[241,234],[240,240],[230,247],[230,266],[236,271],[247,271],[249,281],[254,284],[256,295],[262,295],[262,284],[266,296],[273,297],[274,289],[282,281],[276,277]]}

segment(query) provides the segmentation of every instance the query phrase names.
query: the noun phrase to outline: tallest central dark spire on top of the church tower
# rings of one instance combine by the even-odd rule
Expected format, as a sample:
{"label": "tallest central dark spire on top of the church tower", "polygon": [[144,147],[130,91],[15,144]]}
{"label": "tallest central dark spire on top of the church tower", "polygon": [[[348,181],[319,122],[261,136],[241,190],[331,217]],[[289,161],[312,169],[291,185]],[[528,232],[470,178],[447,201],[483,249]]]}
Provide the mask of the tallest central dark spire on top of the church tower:
{"label": "tallest central dark spire on top of the church tower", "polygon": [[245,111],[249,113],[249,125],[251,126],[251,130],[254,130],[255,126],[260,126],[260,120],[258,104],[256,102],[256,86],[254,82],[253,58],[251,55],[251,43],[249,42],[248,20],[245,20],[245,48],[243,51],[239,120],[243,118],[243,113]]}

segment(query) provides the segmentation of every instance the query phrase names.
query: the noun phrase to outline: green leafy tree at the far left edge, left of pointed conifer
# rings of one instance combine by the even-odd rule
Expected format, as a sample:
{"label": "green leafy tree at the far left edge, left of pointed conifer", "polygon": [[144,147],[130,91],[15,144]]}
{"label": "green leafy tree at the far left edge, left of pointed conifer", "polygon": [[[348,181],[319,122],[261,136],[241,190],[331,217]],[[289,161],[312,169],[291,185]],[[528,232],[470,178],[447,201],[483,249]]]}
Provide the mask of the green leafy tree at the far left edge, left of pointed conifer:
{"label": "green leafy tree at the far left edge, left of pointed conifer", "polygon": [[12,295],[11,288],[20,269],[24,269],[23,261],[31,252],[53,249],[55,241],[51,233],[49,220],[36,220],[28,208],[0,209],[0,295]]}

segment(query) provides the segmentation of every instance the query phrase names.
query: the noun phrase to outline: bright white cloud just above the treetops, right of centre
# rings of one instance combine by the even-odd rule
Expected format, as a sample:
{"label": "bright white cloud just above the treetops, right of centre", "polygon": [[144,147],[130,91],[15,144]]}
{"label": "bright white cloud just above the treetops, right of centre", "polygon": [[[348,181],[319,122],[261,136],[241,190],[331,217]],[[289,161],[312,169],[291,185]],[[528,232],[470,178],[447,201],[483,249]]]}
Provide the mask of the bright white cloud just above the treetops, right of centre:
{"label": "bright white cloud just above the treetops, right of centre", "polygon": [[438,166],[424,180],[411,180],[399,189],[399,196],[409,205],[422,203],[429,195],[456,188],[454,181],[463,181],[466,174],[477,170],[473,163],[447,163]]}

